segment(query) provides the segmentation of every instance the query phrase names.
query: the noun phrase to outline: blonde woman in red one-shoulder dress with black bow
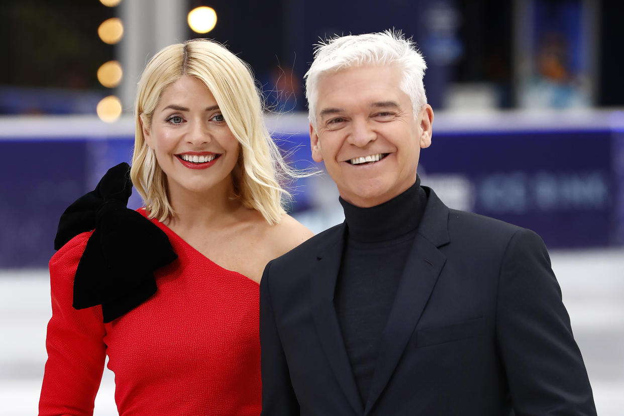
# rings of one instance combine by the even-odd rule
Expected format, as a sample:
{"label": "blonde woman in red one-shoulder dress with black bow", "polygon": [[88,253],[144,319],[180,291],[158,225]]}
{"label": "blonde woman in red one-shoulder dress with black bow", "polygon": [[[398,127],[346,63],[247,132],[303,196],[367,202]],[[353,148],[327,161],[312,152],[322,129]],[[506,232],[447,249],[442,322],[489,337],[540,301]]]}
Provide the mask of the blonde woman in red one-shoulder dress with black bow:
{"label": "blonde woman in red one-shoulder dress with black bow", "polygon": [[145,208],[125,208],[122,164],[62,216],[39,412],[92,414],[108,356],[120,415],[259,415],[258,283],[311,232],[281,208],[250,70],[214,42],[168,46],[135,110]]}

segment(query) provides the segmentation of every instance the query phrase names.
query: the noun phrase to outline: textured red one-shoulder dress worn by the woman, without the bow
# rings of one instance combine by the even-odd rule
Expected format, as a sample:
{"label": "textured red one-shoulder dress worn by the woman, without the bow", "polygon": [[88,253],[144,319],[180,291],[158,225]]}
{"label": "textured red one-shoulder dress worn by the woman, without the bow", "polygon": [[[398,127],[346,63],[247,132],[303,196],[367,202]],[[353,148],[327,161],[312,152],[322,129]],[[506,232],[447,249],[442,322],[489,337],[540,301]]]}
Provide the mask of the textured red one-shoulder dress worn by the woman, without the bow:
{"label": "textured red one-shoulder dress worn by the woman, without the bow", "polygon": [[178,259],[155,273],[154,296],[108,324],[100,306],[72,307],[91,233],[52,256],[40,415],[92,415],[106,355],[120,415],[260,415],[258,284],[152,222]]}

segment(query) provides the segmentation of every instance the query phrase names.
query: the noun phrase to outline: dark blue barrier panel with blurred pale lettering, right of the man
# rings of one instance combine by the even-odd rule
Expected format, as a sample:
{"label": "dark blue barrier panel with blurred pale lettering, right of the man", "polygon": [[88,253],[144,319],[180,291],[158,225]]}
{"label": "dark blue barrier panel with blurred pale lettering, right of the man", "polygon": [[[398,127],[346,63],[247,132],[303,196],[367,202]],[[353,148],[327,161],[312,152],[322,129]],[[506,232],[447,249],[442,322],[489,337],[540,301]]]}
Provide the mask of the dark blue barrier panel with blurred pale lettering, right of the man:
{"label": "dark blue barrier panel with blurred pale lettering, right of the man", "polygon": [[549,247],[622,244],[615,140],[610,130],[442,133],[419,171],[452,208],[530,228]]}

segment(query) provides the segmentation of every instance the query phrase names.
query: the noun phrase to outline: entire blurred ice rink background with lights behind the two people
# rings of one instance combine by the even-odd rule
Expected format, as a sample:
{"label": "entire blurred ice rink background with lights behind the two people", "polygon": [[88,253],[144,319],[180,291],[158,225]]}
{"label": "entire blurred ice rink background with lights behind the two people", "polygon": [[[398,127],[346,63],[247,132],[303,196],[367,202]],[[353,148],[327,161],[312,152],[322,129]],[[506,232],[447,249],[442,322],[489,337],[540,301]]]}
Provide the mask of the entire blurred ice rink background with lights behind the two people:
{"label": "entire blurred ice rink background with lights behind the two people", "polygon": [[[197,37],[225,44],[253,68],[280,148],[308,168],[313,44],[392,27],[429,67],[436,117],[422,183],[453,208],[542,236],[598,413],[622,414],[621,16],[620,0],[2,1],[0,414],[36,414],[58,218],[130,162],[136,85],[155,52]],[[289,209],[311,230],[343,220],[327,175],[292,186]],[[115,414],[112,380],[106,370],[95,414]]]}

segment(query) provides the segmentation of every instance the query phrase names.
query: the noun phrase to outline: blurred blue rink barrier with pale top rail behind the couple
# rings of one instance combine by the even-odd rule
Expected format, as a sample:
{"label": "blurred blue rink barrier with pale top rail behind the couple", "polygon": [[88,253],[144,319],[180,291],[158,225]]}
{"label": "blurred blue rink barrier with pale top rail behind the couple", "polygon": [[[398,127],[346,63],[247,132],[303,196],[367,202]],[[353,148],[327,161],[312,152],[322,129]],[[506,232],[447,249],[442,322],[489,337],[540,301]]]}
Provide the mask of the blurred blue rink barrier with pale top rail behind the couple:
{"label": "blurred blue rink barrier with pale top rail behind the couple", "polygon": [[[291,163],[313,165],[304,116],[271,127]],[[0,119],[0,268],[45,266],[61,213],[109,167],[130,162],[133,135],[130,119]],[[624,245],[622,112],[439,114],[419,173],[447,205],[530,228],[548,248]],[[294,184],[292,211],[318,206],[314,183]],[[141,205],[136,191],[129,205]]]}

